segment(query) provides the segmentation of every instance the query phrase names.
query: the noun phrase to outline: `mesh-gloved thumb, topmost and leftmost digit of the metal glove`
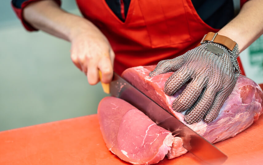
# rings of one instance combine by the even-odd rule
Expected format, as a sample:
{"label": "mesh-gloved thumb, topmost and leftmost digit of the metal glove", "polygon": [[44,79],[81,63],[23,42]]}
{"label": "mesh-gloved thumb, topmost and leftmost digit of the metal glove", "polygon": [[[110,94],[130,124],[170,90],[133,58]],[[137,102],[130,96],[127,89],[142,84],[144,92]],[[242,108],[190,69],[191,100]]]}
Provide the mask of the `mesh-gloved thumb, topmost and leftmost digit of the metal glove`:
{"label": "mesh-gloved thumb, topmost and leftmost digit of the metal glove", "polygon": [[149,73],[149,76],[156,76],[158,74],[164,74],[178,70],[184,64],[184,56],[180,55],[170,60],[160,61],[156,68]]}

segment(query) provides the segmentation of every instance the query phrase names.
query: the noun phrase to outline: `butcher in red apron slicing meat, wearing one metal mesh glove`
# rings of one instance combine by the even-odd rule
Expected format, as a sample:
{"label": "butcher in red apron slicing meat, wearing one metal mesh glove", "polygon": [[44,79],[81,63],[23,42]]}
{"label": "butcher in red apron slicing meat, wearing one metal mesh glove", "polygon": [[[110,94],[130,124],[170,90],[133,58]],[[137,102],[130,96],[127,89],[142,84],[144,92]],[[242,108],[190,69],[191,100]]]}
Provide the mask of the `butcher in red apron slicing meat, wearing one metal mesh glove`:
{"label": "butcher in red apron slicing meat, wearing one metal mesh glove", "polygon": [[108,83],[113,70],[157,64],[149,76],[173,71],[164,92],[193,124],[211,122],[244,74],[238,58],[263,34],[262,0],[76,0],[83,17],[60,0],[12,0],[26,30],[71,42],[71,59],[88,82]]}

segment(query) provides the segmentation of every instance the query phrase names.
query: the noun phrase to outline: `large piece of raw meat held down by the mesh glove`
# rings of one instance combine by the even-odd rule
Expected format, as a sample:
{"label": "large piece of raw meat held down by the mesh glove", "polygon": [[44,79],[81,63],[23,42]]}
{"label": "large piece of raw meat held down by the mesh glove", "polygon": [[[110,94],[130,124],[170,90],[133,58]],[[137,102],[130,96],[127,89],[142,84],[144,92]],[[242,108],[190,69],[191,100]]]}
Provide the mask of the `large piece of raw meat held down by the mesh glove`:
{"label": "large piece of raw meat held down by the mesh glove", "polygon": [[[164,83],[172,72],[149,77],[155,66],[137,66],[125,70],[122,77],[142,91],[164,109],[184,122],[185,112],[173,111],[172,102],[185,88],[182,87],[174,96],[164,94]],[[233,137],[257,121],[263,111],[263,93],[259,85],[245,76],[237,79],[236,86],[225,101],[218,117],[211,123],[200,121],[189,125],[192,130],[211,143]]]}

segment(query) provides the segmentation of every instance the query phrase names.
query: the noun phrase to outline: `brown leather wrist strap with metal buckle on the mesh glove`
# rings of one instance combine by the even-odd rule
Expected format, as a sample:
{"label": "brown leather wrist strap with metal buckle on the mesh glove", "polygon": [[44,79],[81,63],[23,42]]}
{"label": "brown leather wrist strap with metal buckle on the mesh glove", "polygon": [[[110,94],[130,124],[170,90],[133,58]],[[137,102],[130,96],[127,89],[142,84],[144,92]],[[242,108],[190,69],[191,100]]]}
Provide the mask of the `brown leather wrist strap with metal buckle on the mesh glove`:
{"label": "brown leather wrist strap with metal buckle on the mesh glove", "polygon": [[232,39],[219,35],[217,33],[213,32],[208,32],[207,34],[204,35],[204,38],[200,42],[201,44],[208,41],[209,43],[219,43],[227,47],[230,51],[233,51],[235,46],[237,45],[237,42],[233,41]]}

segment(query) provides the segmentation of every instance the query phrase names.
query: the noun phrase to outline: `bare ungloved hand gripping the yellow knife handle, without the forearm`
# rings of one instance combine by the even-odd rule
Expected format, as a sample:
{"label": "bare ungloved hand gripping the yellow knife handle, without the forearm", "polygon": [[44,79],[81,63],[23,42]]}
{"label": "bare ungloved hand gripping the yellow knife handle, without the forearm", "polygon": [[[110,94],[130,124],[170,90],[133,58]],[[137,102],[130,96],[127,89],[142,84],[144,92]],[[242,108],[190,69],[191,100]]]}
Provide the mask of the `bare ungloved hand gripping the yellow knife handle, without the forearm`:
{"label": "bare ungloved hand gripping the yellow knife handle, without the forearm", "polygon": [[102,82],[111,81],[114,58],[110,43],[96,28],[78,31],[71,39],[71,59],[87,75],[91,85],[99,82],[99,70],[102,72]]}

